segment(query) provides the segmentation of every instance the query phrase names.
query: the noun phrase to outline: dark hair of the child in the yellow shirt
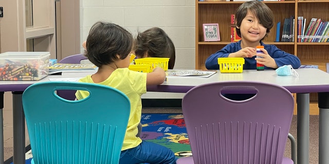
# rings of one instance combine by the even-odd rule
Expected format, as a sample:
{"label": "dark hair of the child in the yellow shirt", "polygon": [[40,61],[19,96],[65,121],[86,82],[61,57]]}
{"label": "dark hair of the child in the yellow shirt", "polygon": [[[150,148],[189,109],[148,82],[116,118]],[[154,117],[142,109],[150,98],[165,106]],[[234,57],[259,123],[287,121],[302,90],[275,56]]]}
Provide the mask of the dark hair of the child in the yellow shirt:
{"label": "dark hair of the child in the yellow shirt", "polygon": [[113,23],[97,22],[89,31],[85,55],[100,68],[124,59],[130,55],[133,47],[134,38],[130,32]]}

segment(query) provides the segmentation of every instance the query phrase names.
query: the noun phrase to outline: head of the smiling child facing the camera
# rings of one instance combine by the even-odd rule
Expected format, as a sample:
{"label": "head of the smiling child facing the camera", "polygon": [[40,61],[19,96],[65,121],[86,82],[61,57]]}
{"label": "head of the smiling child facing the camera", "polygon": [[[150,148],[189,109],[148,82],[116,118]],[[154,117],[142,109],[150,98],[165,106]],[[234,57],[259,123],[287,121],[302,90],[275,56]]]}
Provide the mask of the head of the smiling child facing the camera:
{"label": "head of the smiling child facing the camera", "polygon": [[243,3],[235,12],[236,33],[250,42],[263,40],[273,27],[273,12],[261,1]]}

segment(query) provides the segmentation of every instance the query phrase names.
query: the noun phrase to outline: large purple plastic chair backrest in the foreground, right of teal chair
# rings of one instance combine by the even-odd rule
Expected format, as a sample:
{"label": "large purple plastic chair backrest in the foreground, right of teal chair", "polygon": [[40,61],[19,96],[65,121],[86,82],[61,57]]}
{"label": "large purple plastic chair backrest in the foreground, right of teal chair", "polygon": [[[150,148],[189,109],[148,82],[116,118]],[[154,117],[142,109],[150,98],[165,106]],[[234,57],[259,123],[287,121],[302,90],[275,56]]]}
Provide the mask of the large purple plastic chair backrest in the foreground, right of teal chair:
{"label": "large purple plastic chair backrest in the foreground, right of teal chair", "polygon": [[[231,100],[235,94],[245,100]],[[281,86],[227,81],[194,87],[182,98],[194,163],[281,163],[294,97]]]}

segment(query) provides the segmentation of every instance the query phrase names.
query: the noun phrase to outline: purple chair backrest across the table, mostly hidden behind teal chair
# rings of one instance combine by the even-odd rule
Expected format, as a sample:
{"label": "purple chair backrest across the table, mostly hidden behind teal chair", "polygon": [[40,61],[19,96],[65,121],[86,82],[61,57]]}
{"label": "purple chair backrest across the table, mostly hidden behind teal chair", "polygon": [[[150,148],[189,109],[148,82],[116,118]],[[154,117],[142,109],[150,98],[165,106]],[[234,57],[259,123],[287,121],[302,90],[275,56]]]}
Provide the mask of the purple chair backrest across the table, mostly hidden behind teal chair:
{"label": "purple chair backrest across the table, mostly hidden behind teal chair", "polygon": [[[76,54],[76,55],[67,56],[67,57],[61,59],[58,63],[80,64],[81,60],[86,60],[86,59],[88,59],[88,58],[84,54]],[[74,91],[74,90],[62,90],[62,91],[59,91],[57,94],[60,97],[63,97],[65,99],[75,100],[76,99],[75,93],[76,93],[76,91]]]}

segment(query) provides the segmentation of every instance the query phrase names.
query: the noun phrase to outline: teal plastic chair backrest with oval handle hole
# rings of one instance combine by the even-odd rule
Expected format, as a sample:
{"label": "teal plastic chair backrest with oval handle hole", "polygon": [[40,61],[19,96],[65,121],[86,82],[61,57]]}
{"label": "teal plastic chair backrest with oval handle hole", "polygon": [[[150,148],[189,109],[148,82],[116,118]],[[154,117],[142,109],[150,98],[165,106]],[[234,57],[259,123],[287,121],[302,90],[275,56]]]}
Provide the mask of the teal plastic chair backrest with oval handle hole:
{"label": "teal plastic chair backrest with oval handle hole", "polygon": [[[84,90],[82,100],[56,91]],[[22,97],[34,163],[118,163],[130,115],[130,100],[108,86],[49,81]]]}

